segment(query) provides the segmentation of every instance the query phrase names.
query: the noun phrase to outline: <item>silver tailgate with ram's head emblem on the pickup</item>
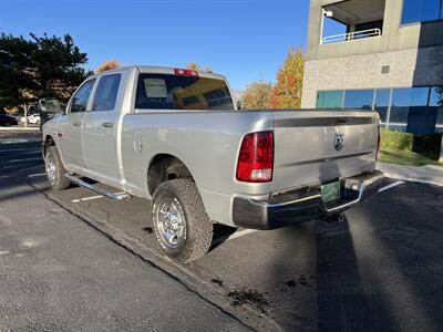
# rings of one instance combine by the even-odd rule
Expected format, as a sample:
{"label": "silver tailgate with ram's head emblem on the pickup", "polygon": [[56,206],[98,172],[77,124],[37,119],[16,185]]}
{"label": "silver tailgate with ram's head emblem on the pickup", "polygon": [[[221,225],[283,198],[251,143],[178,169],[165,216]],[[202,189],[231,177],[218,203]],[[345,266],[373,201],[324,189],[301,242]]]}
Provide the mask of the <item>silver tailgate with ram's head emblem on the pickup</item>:
{"label": "silver tailgate with ram's head emblem on the pickup", "polygon": [[275,112],[272,193],[372,170],[378,125],[375,112]]}

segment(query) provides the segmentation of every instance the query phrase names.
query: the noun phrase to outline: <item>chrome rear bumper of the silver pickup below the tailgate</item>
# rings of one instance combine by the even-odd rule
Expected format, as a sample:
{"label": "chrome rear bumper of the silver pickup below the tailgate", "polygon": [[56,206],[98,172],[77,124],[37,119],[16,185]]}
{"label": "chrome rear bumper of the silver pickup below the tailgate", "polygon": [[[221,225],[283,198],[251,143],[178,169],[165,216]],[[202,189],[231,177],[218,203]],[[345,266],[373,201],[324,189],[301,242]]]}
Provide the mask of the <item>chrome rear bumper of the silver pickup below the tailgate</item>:
{"label": "chrome rear bumper of the silver pickup below the tailgate", "polygon": [[244,228],[274,229],[336,216],[375,194],[382,178],[383,173],[380,170],[343,178],[340,180],[342,198],[328,204],[323,201],[319,186],[278,195],[267,200],[236,197],[233,221]]}

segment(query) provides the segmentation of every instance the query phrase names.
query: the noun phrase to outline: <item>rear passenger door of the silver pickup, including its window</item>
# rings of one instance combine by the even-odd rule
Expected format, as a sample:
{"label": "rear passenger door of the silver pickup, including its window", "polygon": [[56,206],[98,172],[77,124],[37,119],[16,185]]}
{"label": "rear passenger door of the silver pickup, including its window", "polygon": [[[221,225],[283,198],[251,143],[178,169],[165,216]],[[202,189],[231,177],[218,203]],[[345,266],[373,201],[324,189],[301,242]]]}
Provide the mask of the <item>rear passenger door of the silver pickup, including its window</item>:
{"label": "rear passenger door of the silver pickup, including its window", "polygon": [[123,75],[112,73],[100,77],[83,128],[83,151],[89,170],[112,183],[120,179],[117,135]]}

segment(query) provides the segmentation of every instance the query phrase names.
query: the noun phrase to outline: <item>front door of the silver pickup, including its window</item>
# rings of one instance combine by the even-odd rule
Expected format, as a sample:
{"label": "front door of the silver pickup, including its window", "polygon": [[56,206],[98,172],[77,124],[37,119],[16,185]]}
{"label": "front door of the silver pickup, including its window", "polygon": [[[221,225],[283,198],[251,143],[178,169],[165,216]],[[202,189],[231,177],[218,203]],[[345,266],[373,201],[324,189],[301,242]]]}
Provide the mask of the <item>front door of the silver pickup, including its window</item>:
{"label": "front door of the silver pickup, including its window", "polygon": [[94,82],[95,79],[89,80],[78,89],[68,104],[66,114],[59,122],[59,151],[64,166],[70,170],[84,169],[86,167],[82,151],[82,128]]}

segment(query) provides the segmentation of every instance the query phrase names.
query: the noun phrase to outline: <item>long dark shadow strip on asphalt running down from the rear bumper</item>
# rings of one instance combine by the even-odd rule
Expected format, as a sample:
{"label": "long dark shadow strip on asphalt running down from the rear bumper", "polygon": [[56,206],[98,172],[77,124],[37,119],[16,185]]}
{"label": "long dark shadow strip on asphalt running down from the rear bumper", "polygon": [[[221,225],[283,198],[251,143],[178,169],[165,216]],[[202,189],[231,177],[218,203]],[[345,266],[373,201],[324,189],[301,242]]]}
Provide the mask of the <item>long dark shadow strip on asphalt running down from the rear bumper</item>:
{"label": "long dark shadow strip on asphalt running down from the rear bumper", "polygon": [[348,220],[316,224],[319,331],[377,331]]}

